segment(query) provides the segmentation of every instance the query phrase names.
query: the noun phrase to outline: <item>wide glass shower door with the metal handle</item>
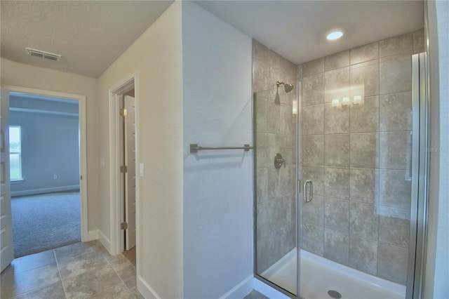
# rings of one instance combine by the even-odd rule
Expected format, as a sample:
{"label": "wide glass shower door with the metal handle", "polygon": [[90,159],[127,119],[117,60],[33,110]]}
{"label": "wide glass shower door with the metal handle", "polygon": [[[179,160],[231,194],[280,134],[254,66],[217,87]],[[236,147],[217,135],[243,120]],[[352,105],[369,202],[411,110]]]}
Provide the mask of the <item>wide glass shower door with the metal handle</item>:
{"label": "wide glass shower door with the metal handle", "polygon": [[301,98],[298,167],[313,197],[307,185],[298,201],[300,296],[406,298],[419,135],[411,56],[311,74]]}

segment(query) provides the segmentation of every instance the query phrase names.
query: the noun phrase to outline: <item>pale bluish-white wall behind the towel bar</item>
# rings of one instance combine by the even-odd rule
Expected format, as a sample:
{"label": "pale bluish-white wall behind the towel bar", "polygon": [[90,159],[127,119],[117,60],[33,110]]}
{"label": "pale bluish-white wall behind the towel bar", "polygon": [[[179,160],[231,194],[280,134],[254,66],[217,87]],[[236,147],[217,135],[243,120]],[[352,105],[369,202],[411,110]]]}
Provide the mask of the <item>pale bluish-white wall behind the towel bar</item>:
{"label": "pale bluish-white wall behind the towel bar", "polygon": [[253,151],[189,144],[253,144],[251,39],[183,1],[182,41],[184,298],[220,298],[253,277]]}

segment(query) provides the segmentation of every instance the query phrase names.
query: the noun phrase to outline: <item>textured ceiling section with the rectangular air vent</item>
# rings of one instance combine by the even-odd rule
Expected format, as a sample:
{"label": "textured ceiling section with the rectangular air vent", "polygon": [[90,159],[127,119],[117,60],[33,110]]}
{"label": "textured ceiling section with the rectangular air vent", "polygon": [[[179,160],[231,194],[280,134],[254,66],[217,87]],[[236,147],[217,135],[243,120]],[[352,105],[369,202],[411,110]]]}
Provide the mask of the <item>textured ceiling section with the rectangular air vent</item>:
{"label": "textured ceiling section with the rectangular air vent", "polygon": [[[1,57],[96,78],[172,2],[1,0]],[[62,59],[29,56],[26,47]]]}

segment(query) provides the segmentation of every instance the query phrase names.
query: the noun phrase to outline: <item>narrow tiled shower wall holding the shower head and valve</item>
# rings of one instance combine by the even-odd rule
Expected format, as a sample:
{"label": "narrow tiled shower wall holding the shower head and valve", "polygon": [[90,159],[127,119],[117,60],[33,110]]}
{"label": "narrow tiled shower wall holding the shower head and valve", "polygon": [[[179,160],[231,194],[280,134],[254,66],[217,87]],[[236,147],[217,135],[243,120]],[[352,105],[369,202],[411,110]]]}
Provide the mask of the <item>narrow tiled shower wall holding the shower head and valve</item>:
{"label": "narrow tiled shower wall holding the shower head and valve", "polygon": [[[276,263],[296,244],[296,87],[286,93],[276,81],[295,85],[297,67],[253,40],[255,167],[257,187],[257,273]],[[285,167],[274,168],[282,154]]]}

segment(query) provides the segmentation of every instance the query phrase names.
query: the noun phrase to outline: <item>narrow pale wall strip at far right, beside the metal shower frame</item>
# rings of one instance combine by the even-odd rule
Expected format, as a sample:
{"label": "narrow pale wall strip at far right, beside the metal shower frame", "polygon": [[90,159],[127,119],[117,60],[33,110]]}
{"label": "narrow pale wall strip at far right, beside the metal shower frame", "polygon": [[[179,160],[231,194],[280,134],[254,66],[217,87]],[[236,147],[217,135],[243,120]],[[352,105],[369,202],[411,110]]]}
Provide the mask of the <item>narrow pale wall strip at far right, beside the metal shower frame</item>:
{"label": "narrow pale wall strip at far right, beside the metal shower frame", "polygon": [[424,298],[449,293],[449,2],[427,1],[430,76],[430,185]]}

